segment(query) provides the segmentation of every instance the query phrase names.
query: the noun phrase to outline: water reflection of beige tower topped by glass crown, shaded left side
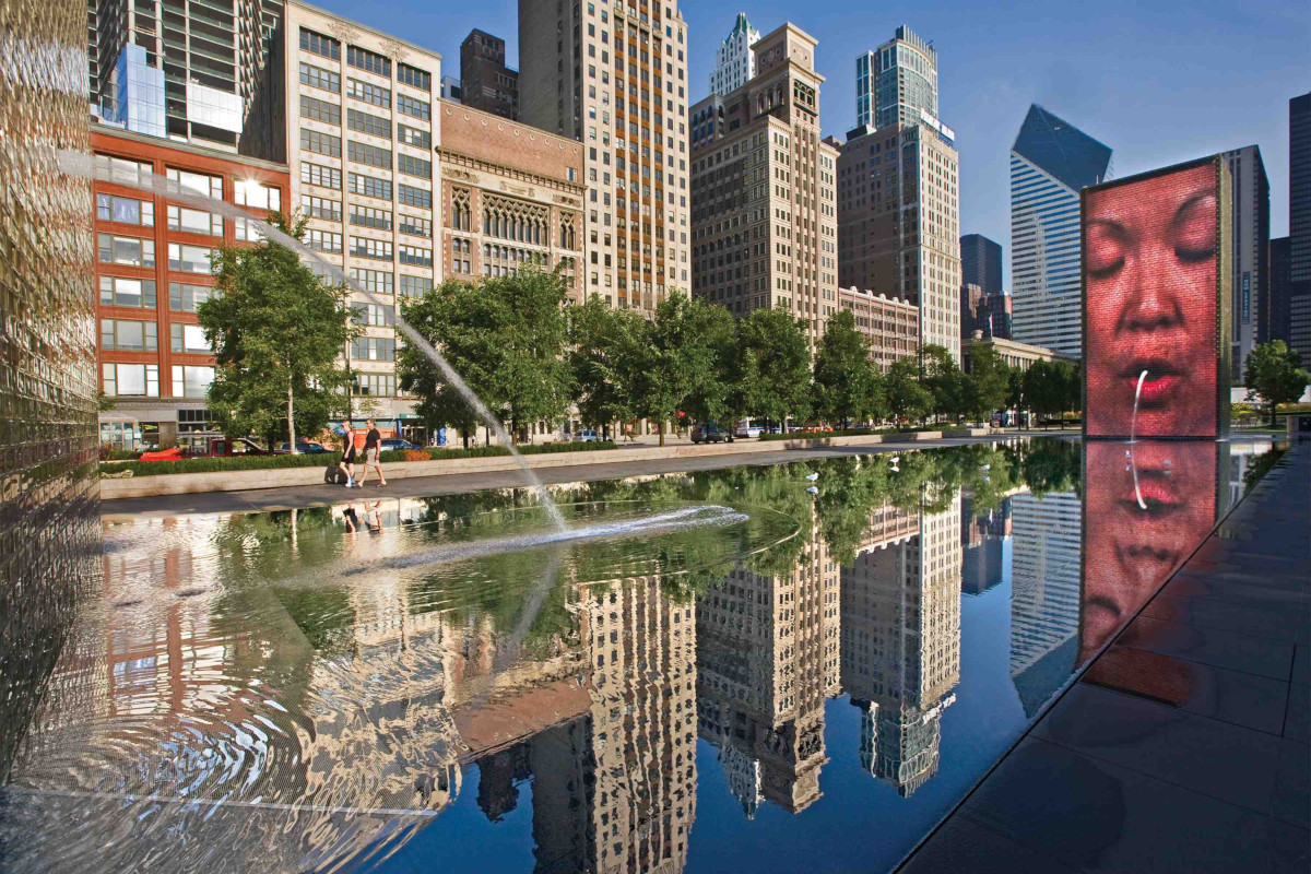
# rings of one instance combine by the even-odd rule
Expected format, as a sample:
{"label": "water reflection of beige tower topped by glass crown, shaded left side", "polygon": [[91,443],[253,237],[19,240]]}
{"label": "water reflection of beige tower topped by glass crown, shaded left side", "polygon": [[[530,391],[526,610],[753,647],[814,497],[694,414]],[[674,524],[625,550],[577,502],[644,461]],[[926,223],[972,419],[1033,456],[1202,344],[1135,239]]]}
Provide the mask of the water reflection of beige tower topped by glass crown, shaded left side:
{"label": "water reflection of beige tower topped by glass crown, shaded left side", "polygon": [[842,684],[861,709],[860,760],[910,795],[937,772],[941,712],[960,680],[961,499],[918,535],[842,573]]}

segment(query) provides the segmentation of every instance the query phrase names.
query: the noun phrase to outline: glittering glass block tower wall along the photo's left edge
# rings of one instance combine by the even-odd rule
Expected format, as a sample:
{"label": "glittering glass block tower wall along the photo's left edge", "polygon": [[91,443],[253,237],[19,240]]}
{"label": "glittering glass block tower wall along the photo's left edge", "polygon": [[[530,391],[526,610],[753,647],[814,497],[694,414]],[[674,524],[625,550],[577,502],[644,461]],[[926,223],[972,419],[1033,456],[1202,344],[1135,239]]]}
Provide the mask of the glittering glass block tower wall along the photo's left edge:
{"label": "glittering glass block tower wall along the photo's left edge", "polygon": [[0,782],[100,571],[85,16],[0,3]]}

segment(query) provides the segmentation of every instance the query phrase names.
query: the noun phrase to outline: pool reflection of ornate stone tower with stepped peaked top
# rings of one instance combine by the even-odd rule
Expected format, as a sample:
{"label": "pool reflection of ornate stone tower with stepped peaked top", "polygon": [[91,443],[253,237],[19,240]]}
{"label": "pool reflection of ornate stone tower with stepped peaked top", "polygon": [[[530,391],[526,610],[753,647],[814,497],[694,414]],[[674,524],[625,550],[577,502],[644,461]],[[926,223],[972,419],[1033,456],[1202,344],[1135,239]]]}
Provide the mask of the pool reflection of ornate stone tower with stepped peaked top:
{"label": "pool reflection of ornate stone tower with stepped peaked top", "polygon": [[751,815],[819,795],[823,702],[840,692],[839,573],[818,533],[789,574],[738,566],[697,601],[699,731]]}

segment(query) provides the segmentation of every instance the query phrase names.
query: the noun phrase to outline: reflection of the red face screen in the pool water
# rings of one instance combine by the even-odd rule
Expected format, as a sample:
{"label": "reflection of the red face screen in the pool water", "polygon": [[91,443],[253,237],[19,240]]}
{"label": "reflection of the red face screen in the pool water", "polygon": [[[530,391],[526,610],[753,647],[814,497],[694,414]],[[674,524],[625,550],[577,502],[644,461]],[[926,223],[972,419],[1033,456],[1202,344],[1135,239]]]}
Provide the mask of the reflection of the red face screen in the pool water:
{"label": "reflection of the red face screen in the pool water", "polygon": [[[1215,524],[1224,448],[1089,442],[1084,452],[1080,660],[1138,612]],[[1154,608],[1152,618],[1168,620],[1168,608]]]}

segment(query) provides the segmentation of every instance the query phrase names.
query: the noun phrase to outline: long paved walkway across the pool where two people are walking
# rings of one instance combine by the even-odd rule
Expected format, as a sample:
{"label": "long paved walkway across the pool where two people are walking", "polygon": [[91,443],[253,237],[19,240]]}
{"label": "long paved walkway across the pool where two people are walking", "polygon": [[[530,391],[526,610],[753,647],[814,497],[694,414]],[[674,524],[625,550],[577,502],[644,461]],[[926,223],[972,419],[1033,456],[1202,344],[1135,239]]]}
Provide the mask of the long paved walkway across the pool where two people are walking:
{"label": "long paved walkway across the pool where two people are walking", "polygon": [[[1055,432],[1047,435],[1054,436]],[[992,443],[1015,440],[1021,436],[1041,436],[1036,434],[996,434],[986,438],[943,438],[936,440],[898,440],[872,443],[868,446],[834,446],[813,449],[777,448],[771,451],[751,451],[743,453],[717,452],[707,455],[684,455],[679,457],[638,459],[625,461],[593,461],[587,464],[561,464],[558,466],[535,468],[534,473],[545,482],[589,482],[595,480],[615,480],[654,473],[676,473],[682,470],[717,470],[745,465],[783,464],[806,459],[832,457],[834,455],[859,455],[871,452],[906,452],[910,449],[932,449],[936,447],[966,446],[970,443]],[[1067,431],[1066,438],[1076,438],[1078,432]],[[753,446],[735,443],[743,448]],[[758,446],[758,444],[756,444]],[[728,447],[725,447],[728,448]],[[591,455],[591,453],[589,453]],[[604,453],[600,453],[604,455]],[[568,455],[530,456],[565,461]],[[591,455],[593,459],[597,455]],[[501,459],[498,459],[501,460]],[[144,498],[119,498],[101,501],[101,518],[109,522],[127,520],[142,516],[176,516],[181,514],[207,512],[265,512],[271,510],[291,510],[332,504],[351,497],[413,498],[443,494],[459,494],[481,489],[520,489],[523,473],[518,468],[502,470],[480,470],[475,473],[444,473],[426,477],[393,478],[385,489],[372,485],[362,490],[347,490],[342,486],[290,485],[277,489],[257,489],[248,491],[205,491],[195,494],[156,495]]]}

